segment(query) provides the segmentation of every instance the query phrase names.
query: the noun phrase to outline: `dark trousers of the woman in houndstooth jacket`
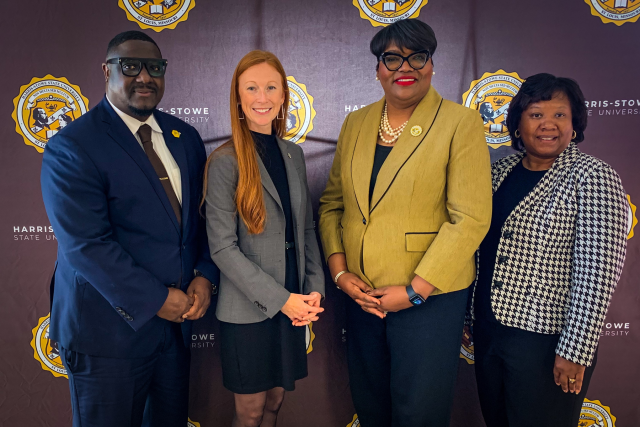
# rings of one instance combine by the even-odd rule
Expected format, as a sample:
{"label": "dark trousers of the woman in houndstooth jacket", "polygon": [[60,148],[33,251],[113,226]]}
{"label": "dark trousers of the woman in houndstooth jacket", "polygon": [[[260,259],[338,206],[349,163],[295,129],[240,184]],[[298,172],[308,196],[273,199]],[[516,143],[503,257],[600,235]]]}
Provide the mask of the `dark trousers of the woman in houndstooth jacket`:
{"label": "dark trousers of the woman in houndstooth jacket", "polygon": [[553,378],[560,335],[510,328],[486,320],[473,328],[480,407],[487,427],[576,427],[596,357],[578,395]]}

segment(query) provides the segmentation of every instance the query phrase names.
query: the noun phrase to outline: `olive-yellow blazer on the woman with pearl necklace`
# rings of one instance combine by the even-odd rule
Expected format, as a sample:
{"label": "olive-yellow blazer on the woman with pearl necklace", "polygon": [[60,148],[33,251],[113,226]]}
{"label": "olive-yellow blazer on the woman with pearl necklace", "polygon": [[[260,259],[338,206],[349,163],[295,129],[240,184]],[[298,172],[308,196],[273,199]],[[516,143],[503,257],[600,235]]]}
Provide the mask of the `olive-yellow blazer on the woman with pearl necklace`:
{"label": "olive-yellow blazer on the woman with pearl necklace", "polygon": [[464,289],[475,279],[474,254],[491,222],[482,119],[432,87],[382,165],[369,202],[384,103],[349,114],[342,126],[320,198],[325,257],[344,252],[349,271],[374,288],[407,285],[417,274],[434,294]]}

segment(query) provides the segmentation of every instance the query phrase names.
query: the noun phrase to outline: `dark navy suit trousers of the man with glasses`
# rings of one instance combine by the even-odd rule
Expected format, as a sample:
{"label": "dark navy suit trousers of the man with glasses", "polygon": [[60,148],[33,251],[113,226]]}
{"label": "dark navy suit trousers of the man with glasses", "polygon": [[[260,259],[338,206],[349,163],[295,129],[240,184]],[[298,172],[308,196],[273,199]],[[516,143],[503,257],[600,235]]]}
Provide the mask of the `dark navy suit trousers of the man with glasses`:
{"label": "dark navy suit trousers of the man with glasses", "polygon": [[61,348],[69,375],[74,427],[184,427],[189,350],[178,323],[148,357],[115,359]]}

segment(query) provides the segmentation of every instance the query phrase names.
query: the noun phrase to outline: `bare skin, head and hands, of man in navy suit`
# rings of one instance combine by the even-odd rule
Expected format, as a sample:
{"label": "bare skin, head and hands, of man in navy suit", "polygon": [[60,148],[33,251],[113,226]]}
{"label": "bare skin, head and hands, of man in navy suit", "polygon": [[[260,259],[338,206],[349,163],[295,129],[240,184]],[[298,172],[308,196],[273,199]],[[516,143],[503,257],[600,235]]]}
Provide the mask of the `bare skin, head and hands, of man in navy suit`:
{"label": "bare skin, head and hands, of man in navy suit", "polygon": [[[160,50],[150,42],[129,40],[117,46],[106,59],[110,58],[162,58]],[[137,77],[122,74],[119,64],[102,64],[109,101],[123,113],[143,122],[146,116],[136,115],[129,106],[138,110],[152,111],[164,95],[164,77],[151,77],[146,67]],[[204,277],[194,278],[187,292],[169,288],[169,294],[158,317],[181,323],[185,319],[196,320],[204,316],[211,302],[211,282]]]}

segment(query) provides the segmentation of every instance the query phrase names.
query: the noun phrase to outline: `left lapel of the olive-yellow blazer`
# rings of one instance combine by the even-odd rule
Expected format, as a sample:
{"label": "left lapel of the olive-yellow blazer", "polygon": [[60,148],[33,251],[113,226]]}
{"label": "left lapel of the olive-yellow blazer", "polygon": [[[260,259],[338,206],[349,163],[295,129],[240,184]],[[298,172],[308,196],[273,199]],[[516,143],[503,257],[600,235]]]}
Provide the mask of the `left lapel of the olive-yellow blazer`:
{"label": "left lapel of the olive-yellow blazer", "polygon": [[361,131],[356,139],[353,156],[351,157],[351,180],[358,206],[360,206],[362,215],[367,221],[369,220],[369,185],[371,183],[371,171],[373,170],[373,159],[378,140],[378,126],[380,125],[384,102],[384,98],[382,98],[369,109],[360,125]]}

